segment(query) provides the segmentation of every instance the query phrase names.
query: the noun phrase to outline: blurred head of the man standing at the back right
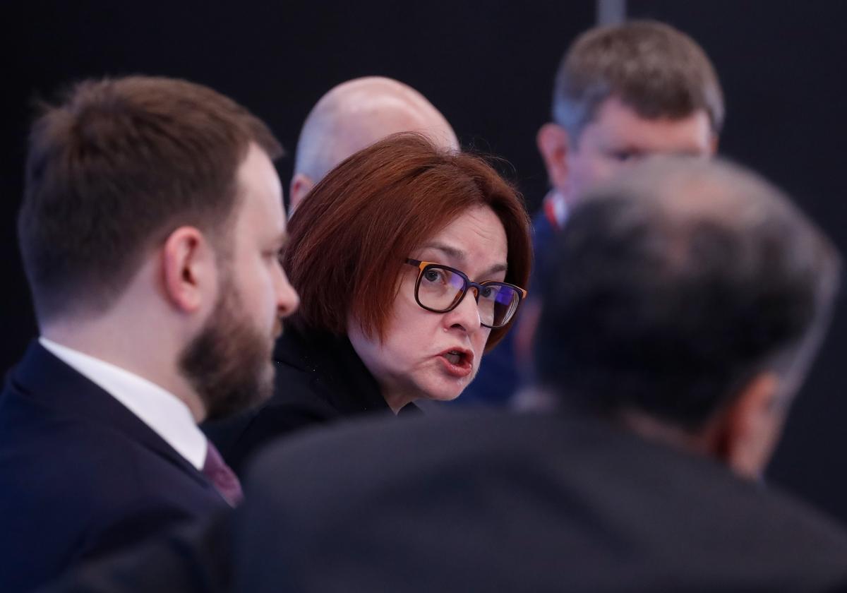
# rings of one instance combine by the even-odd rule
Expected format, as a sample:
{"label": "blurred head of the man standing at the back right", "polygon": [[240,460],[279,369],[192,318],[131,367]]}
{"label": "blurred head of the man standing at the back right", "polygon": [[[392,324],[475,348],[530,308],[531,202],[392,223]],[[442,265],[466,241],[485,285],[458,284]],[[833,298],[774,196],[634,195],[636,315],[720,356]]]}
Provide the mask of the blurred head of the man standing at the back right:
{"label": "blurred head of the man standing at the back right", "polygon": [[568,204],[651,154],[711,156],[723,98],[706,53],[668,25],[634,21],[586,31],[556,74],[553,121],[538,147]]}

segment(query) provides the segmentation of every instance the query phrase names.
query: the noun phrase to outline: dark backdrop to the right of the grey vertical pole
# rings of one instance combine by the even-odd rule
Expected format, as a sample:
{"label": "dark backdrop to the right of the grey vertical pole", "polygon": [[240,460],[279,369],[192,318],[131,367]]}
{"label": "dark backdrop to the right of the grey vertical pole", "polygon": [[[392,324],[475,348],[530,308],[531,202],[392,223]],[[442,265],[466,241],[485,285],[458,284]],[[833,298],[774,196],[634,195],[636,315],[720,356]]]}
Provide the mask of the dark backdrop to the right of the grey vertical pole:
{"label": "dark backdrop to the right of the grey vertical pole", "polygon": [[[847,3],[633,0],[706,48],[721,76],[721,152],[794,196],[847,253]],[[844,283],[842,283],[844,284]],[[821,357],[796,402],[770,477],[847,521],[847,306],[844,289]]]}

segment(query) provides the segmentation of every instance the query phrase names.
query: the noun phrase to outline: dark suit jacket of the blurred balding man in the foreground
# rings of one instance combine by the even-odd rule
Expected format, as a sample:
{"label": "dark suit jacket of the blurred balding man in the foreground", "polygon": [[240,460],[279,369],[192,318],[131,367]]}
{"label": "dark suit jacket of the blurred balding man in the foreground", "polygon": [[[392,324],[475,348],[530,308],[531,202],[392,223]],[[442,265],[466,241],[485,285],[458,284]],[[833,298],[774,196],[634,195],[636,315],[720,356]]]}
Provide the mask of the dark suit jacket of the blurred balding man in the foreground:
{"label": "dark suit jacket of the blurred balding man in the foreground", "polygon": [[368,421],[257,458],[235,590],[810,591],[847,536],[728,468],[598,418]]}

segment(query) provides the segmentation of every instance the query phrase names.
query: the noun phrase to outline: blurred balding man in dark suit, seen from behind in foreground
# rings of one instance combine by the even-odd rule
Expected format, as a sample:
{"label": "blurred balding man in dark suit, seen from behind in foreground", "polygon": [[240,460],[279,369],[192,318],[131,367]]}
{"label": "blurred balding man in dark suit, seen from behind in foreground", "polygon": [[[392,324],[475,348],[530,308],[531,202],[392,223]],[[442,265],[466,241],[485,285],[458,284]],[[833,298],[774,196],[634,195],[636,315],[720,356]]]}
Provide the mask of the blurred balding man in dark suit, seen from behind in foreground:
{"label": "blurred balding man in dark suit, seen from behind in foreground", "polygon": [[236,590],[837,590],[847,535],[759,481],[839,261],[766,181],[665,158],[573,208],[554,410],[369,423],[257,459]]}

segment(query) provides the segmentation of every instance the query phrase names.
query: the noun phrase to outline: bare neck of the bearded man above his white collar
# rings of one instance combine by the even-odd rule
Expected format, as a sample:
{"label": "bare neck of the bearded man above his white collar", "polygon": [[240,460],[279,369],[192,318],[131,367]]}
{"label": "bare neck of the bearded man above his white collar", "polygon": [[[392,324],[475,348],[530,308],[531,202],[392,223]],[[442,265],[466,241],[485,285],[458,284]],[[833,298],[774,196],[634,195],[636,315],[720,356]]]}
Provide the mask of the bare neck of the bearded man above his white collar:
{"label": "bare neck of the bearded man above his white collar", "polygon": [[189,381],[180,374],[179,350],[172,341],[154,328],[142,330],[134,326],[134,320],[111,317],[43,324],[41,335],[59,346],[113,364],[162,387],[185,403],[198,424],[202,422],[206,409]]}

